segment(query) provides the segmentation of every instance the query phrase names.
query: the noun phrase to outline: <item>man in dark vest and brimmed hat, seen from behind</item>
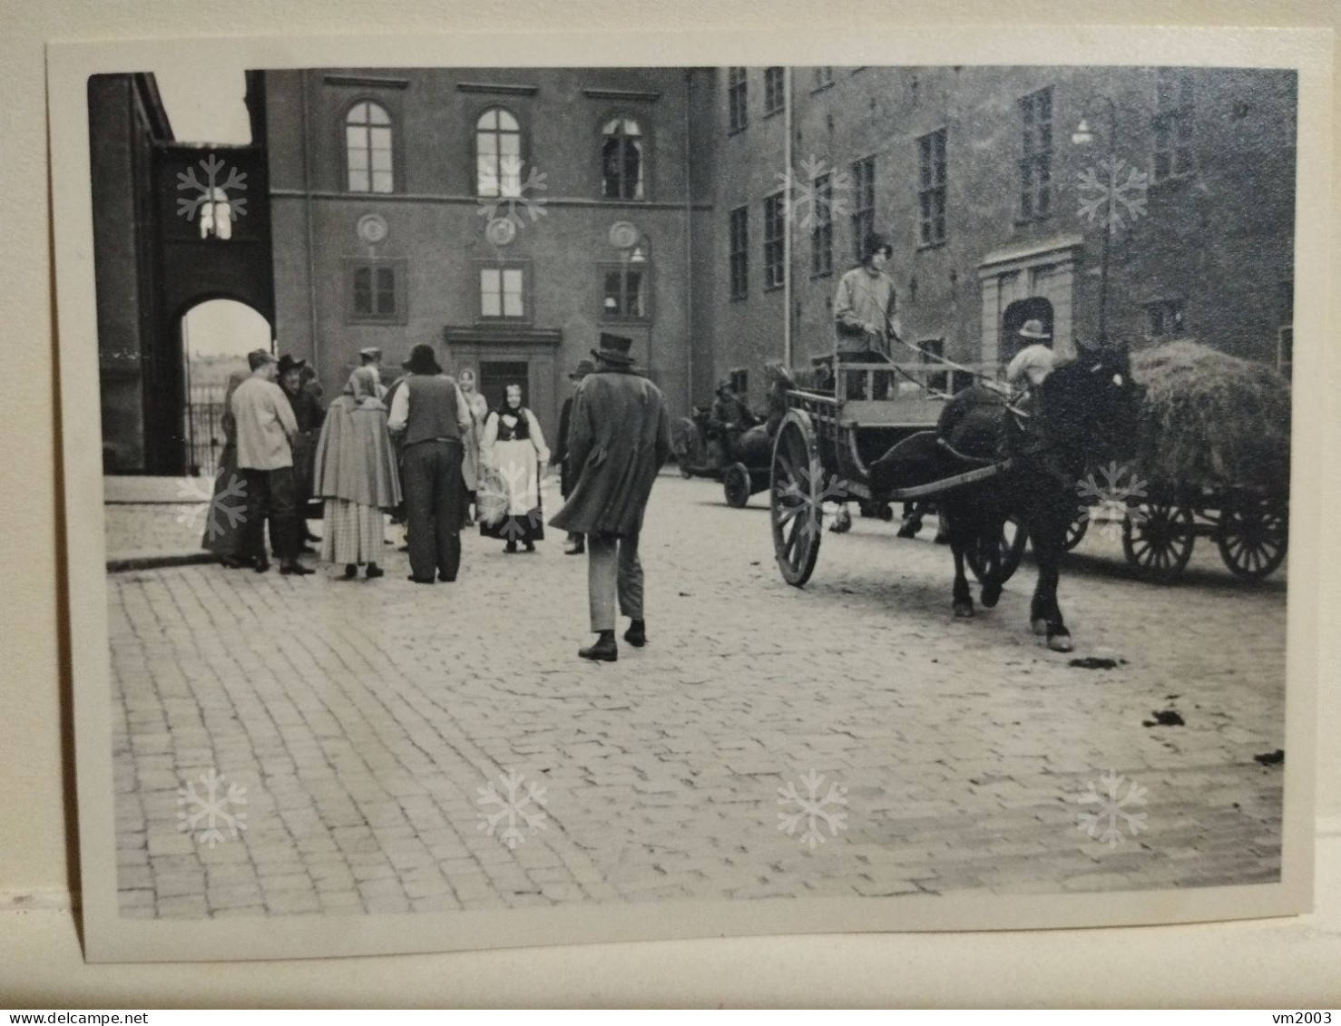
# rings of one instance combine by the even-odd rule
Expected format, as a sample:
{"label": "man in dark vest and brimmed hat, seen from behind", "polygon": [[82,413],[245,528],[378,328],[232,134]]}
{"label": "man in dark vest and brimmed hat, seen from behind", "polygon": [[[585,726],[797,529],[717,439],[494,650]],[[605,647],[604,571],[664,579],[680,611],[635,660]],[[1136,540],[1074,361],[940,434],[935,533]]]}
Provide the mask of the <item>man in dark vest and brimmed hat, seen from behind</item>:
{"label": "man in dark vest and brimmed hat, seen from behind", "polygon": [[418,345],[405,362],[409,372],[392,398],[386,426],[401,436],[401,486],[410,545],[410,575],[417,585],[455,581],[461,566],[461,439],[471,408],[456,382],[443,373],[433,346]]}

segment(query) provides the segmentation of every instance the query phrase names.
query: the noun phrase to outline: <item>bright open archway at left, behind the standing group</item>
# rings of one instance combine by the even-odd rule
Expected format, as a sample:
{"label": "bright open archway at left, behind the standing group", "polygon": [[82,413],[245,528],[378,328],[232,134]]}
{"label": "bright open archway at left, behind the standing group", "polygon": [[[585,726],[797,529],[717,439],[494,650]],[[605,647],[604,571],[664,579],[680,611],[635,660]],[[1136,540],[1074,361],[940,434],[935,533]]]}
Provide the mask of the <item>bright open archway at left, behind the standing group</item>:
{"label": "bright open archway at left, behind the standing group", "polygon": [[270,322],[245,303],[211,299],[178,322],[182,355],[181,437],[186,473],[212,477],[224,449],[224,398],[228,380],[245,372],[253,349],[272,350]]}

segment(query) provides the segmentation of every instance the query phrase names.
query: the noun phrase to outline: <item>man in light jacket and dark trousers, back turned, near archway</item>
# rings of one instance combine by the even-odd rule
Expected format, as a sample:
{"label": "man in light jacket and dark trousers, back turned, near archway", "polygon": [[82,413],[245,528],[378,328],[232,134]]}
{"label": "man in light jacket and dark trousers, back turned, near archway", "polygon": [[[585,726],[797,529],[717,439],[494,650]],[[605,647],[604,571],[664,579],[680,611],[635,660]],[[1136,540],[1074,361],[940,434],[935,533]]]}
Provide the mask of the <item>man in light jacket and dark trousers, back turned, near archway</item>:
{"label": "man in light jacket and dark trousers, back turned, near archway", "polygon": [[270,570],[263,526],[270,518],[270,545],[279,557],[279,573],[311,574],[298,562],[299,519],[294,488],[292,440],[298,421],[275,384],[279,365],[267,350],[247,354],[251,377],[236,388],[232,414],[237,425],[237,469],[247,487],[251,514],[243,531],[243,555],[253,558],[256,573]]}

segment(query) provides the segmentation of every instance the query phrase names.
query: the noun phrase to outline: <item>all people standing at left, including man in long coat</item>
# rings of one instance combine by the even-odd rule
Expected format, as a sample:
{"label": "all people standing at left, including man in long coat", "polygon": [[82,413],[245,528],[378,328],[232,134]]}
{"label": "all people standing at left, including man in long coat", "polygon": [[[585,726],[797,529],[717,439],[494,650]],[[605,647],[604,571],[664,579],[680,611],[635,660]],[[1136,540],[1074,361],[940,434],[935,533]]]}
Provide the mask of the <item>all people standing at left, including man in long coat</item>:
{"label": "all people standing at left, including man in long coat", "polygon": [[[570,376],[578,386],[565,402],[555,453],[566,503],[550,523],[567,531],[566,553],[589,553],[597,641],[579,654],[602,661],[617,659],[617,601],[632,621],[625,640],[646,644],[638,532],[670,452],[661,393],[633,369],[630,346],[602,334],[594,361]],[[229,380],[224,401],[213,498],[232,515],[224,523],[211,516],[204,546],[224,566],[264,573],[268,520],[282,574],[314,573],[299,555],[320,542],[320,558],[343,563],[346,579],[361,566],[378,578],[385,518],[402,512],[414,583],[456,579],[460,532],[475,519],[483,535],[504,542],[504,553],[523,551],[519,546],[534,553],[544,536],[540,496],[551,455],[520,384],[507,385],[503,404],[489,410],[473,372],[449,377],[432,346],[416,346],[389,389],[381,384],[381,351],[365,349],[359,359],[323,410],[304,361],[248,354],[248,370]],[[314,499],[325,503],[320,538],[307,527]]]}

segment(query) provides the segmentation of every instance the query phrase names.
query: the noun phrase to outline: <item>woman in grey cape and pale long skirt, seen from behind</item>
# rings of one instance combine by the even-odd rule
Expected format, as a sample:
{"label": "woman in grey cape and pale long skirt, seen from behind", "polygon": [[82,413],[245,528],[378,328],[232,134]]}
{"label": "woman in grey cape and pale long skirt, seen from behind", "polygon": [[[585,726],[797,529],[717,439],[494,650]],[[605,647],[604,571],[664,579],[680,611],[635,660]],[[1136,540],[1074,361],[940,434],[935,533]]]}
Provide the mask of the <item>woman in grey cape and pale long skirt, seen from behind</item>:
{"label": "woman in grey cape and pale long skirt, seen from behind", "polygon": [[377,370],[358,367],[326,412],[316,443],[312,494],[326,500],[322,559],[345,563],[345,578],[385,571],[377,559],[385,545],[382,514],[401,502],[396,451],[386,429],[386,404],[377,397]]}

